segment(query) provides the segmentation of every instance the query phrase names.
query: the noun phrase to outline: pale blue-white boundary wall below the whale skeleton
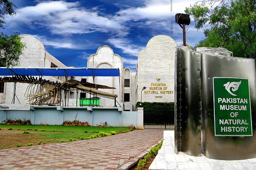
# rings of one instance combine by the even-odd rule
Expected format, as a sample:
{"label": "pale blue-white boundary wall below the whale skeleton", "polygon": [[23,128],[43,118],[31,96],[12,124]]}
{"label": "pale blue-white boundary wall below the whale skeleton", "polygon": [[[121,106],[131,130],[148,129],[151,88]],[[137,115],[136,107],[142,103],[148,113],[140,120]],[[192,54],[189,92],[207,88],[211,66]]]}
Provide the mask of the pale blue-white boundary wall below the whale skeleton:
{"label": "pale blue-white boundary wall below the whale skeleton", "polygon": [[143,108],[135,111],[122,111],[121,107],[62,107],[30,106],[30,110],[0,110],[0,122],[29,119],[32,124],[61,125],[63,121],[88,122],[91,126],[107,122],[108,126],[130,126],[143,129]]}

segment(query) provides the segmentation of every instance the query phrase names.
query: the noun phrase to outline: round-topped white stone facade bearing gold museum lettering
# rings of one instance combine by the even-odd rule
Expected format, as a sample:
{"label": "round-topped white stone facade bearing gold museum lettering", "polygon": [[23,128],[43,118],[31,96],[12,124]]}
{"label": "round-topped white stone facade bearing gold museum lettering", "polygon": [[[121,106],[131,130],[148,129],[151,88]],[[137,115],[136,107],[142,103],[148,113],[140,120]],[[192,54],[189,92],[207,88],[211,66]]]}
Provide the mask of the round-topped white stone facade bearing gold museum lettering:
{"label": "round-topped white stone facade bearing gold museum lettering", "polygon": [[[136,102],[174,102],[174,57],[176,42],[157,35],[139,52],[136,70]],[[141,90],[143,87],[145,90]]]}

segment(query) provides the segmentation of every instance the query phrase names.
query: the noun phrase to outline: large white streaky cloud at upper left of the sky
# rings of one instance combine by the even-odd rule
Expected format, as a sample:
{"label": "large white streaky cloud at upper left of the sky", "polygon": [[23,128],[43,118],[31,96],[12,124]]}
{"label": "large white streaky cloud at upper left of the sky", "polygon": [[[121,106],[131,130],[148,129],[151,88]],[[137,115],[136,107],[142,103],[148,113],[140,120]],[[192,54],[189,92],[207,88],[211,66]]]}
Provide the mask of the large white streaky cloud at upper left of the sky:
{"label": "large white streaky cloud at upper left of the sky", "polygon": [[97,8],[93,10],[79,6],[78,2],[43,1],[35,6],[16,10],[15,17],[8,17],[11,26],[27,24],[37,29],[46,27],[51,33],[59,35],[82,33],[111,33],[118,36],[128,34],[127,29],[111,17],[100,16]]}

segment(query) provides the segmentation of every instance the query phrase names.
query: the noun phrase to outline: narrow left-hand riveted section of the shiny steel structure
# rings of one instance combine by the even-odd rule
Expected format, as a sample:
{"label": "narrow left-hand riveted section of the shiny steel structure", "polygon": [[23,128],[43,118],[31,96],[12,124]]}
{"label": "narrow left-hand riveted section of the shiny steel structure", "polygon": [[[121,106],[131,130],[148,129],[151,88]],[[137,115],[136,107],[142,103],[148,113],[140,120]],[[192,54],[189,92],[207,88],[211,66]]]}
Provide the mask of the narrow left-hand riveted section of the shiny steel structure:
{"label": "narrow left-hand riveted section of the shiny steel structure", "polygon": [[178,47],[175,66],[175,151],[201,156],[199,53]]}

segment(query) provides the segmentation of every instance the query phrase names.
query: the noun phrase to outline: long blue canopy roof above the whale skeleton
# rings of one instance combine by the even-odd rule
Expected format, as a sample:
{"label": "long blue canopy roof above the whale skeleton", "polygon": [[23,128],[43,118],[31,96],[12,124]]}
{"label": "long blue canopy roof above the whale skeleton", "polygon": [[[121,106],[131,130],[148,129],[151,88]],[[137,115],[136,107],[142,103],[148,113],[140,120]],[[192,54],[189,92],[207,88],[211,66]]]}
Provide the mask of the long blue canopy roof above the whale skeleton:
{"label": "long blue canopy roof above the whale skeleton", "polygon": [[0,76],[117,76],[118,68],[6,68],[0,67]]}

